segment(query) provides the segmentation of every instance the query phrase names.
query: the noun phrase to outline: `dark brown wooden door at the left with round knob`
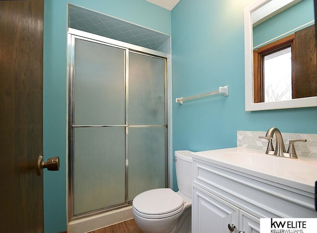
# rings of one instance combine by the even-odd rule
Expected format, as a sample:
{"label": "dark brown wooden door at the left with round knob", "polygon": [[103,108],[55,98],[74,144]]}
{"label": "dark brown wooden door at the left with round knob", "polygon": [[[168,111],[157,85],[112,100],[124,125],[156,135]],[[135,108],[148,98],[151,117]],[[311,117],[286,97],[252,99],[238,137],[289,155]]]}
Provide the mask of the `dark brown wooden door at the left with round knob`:
{"label": "dark brown wooden door at the left with round knob", "polygon": [[0,232],[42,233],[43,0],[0,1]]}

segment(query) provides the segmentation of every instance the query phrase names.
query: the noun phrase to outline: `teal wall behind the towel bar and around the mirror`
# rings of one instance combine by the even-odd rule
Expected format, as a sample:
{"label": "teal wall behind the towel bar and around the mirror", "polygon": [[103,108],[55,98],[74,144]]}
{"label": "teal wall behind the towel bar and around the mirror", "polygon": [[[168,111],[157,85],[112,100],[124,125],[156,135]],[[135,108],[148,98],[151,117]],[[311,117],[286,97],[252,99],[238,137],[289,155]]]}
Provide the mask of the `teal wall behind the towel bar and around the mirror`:
{"label": "teal wall behind the towel bar and around the mirror", "polygon": [[174,151],[235,147],[239,130],[317,133],[316,107],[244,110],[243,9],[255,1],[180,0],[172,9],[173,99],[229,86],[228,97],[173,103]]}

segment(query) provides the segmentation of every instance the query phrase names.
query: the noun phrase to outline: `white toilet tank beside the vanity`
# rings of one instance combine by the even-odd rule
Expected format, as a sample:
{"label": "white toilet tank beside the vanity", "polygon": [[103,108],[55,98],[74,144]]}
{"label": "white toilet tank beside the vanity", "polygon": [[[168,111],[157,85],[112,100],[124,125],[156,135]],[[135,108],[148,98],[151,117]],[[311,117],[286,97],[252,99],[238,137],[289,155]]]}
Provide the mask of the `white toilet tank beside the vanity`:
{"label": "white toilet tank beside the vanity", "polygon": [[186,196],[192,197],[192,151],[175,151],[176,179],[179,191]]}

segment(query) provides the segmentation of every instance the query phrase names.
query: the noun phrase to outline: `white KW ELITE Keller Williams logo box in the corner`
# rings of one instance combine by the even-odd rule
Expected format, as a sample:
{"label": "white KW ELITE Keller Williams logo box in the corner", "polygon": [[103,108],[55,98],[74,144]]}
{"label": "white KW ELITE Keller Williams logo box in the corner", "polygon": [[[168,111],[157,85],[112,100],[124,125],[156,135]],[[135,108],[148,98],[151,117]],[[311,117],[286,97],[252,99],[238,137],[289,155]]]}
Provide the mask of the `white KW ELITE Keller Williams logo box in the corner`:
{"label": "white KW ELITE Keller Williams logo box in the corner", "polygon": [[260,233],[316,233],[317,219],[261,219]]}

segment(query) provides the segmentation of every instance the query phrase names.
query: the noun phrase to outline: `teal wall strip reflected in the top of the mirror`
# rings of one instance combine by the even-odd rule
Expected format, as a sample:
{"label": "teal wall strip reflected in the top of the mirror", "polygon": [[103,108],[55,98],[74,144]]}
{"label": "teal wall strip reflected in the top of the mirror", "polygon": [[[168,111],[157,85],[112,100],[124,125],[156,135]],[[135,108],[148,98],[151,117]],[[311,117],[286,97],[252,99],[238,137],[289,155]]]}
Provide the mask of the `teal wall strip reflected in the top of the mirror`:
{"label": "teal wall strip reflected in the top of the mirror", "polygon": [[[314,1],[302,0],[287,10],[254,27],[253,46],[256,47],[268,40],[309,23],[315,19],[314,16]],[[313,23],[307,25],[306,27],[312,24]],[[297,29],[296,31],[298,30],[300,29]],[[293,33],[294,32],[286,34],[285,36]]]}

